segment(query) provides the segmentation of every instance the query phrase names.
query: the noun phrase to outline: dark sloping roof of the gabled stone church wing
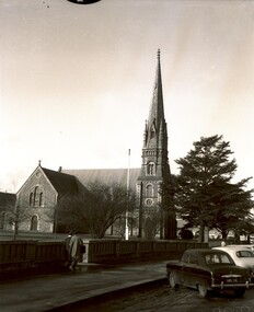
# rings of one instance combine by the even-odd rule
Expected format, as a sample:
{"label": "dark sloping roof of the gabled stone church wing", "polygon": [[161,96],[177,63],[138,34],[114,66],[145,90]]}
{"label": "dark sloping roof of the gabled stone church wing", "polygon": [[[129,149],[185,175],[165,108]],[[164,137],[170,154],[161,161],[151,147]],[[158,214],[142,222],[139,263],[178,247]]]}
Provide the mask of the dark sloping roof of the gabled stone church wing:
{"label": "dark sloping roof of the gabled stone church wing", "polygon": [[42,167],[43,172],[59,195],[76,194],[84,187],[70,174]]}

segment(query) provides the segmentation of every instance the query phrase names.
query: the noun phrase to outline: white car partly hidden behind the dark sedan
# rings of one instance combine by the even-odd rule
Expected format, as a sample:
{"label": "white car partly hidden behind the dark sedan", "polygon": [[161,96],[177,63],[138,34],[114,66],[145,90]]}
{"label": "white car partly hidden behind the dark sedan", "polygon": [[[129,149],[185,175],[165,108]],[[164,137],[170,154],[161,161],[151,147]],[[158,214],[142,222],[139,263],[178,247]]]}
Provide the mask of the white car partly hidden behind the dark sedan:
{"label": "white car partly hidden behind the dark sedan", "polygon": [[238,266],[250,269],[252,281],[254,281],[254,252],[242,245],[228,245],[223,247],[213,247],[228,253]]}

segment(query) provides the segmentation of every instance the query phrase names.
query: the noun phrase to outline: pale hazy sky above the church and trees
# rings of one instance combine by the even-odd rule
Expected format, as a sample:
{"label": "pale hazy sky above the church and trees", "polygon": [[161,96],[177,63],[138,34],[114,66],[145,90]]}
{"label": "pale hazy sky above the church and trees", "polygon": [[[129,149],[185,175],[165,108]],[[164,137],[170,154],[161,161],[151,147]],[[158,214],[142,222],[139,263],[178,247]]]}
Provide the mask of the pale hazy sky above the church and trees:
{"label": "pale hazy sky above the church and trees", "polygon": [[39,160],[141,167],[158,48],[172,173],[194,141],[222,135],[235,181],[254,176],[253,30],[251,0],[1,0],[0,190]]}

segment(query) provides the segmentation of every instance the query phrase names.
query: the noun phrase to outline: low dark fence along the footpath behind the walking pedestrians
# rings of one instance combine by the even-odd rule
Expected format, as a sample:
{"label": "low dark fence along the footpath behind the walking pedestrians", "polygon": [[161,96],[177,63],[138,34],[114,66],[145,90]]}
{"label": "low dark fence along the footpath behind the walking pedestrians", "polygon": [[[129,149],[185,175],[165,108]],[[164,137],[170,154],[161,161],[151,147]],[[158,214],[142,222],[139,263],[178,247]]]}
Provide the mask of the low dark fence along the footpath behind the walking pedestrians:
{"label": "low dark fence along the footpath behind the walking pedestrians", "polygon": [[[186,249],[208,247],[195,241],[84,241],[84,263],[119,263],[176,258]],[[0,242],[0,269],[24,269],[65,264],[65,244],[42,241]]]}

